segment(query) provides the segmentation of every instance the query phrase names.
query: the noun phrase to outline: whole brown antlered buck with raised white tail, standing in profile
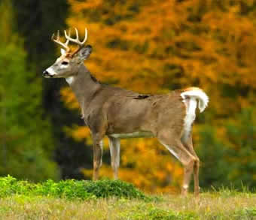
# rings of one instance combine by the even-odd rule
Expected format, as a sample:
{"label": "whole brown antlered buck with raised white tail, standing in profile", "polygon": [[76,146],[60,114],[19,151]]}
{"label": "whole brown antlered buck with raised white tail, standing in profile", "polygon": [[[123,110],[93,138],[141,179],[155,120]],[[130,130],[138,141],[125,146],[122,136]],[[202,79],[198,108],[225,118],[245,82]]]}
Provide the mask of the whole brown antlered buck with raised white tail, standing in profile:
{"label": "whole brown antlered buck with raised white tail, standing in profile", "polygon": [[[61,56],[43,71],[46,78],[65,78],[81,107],[85,125],[90,128],[93,140],[93,180],[99,179],[102,166],[102,140],[108,137],[111,167],[114,179],[120,166],[120,139],[157,137],[157,140],[181,162],[184,177],[181,194],[187,195],[192,173],[194,194],[199,195],[200,159],[194,151],[192,125],[197,107],[200,113],[208,105],[209,97],[202,89],[190,87],[176,89],[168,94],[141,94],[117,86],[100,83],[84,65],[90,57],[92,46],[80,41],[78,29],[75,38],[64,31],[66,42],[60,41],[59,31],[52,40],[59,44]],[[71,50],[69,42],[77,48]]]}

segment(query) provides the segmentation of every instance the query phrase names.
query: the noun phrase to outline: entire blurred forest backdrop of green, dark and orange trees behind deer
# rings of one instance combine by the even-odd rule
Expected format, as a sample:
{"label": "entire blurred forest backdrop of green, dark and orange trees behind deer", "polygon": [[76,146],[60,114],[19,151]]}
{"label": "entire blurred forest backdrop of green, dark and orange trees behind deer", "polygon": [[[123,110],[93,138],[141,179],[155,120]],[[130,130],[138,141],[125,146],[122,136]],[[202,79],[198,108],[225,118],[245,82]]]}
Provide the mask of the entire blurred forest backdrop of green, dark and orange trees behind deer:
{"label": "entire blurred forest backdrop of green, dark and orange trees behind deer", "polygon": [[[91,179],[90,134],[64,79],[43,79],[59,56],[50,36],[89,32],[87,68],[102,83],[144,93],[199,86],[200,185],[256,187],[256,1],[2,0],[0,175]],[[101,176],[112,176],[108,141]],[[178,191],[182,167],[153,139],[121,141],[120,179]]]}

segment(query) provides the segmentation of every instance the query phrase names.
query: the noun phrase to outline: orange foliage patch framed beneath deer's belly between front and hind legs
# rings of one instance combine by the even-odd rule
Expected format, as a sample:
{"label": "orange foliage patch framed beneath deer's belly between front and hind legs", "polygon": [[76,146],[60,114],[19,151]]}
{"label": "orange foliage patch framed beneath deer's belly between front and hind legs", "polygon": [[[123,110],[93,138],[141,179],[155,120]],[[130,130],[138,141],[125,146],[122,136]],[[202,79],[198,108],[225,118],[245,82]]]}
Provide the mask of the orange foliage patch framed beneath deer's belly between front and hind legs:
{"label": "orange foliage patch framed beneath deer's belly between front and hind legs", "polygon": [[145,191],[173,191],[181,183],[181,166],[156,139],[122,140],[121,161],[120,178]]}

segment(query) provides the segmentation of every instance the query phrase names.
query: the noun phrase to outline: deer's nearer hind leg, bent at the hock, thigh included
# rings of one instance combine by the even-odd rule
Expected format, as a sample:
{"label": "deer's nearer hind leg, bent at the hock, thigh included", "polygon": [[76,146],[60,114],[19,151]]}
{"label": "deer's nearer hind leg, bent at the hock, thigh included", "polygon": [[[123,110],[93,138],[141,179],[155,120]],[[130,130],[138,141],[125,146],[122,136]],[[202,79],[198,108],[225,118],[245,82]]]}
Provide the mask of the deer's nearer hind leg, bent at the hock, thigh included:
{"label": "deer's nearer hind leg, bent at the hock, thigh included", "polygon": [[181,143],[180,135],[174,134],[172,131],[161,131],[157,134],[157,138],[160,140],[160,143],[162,143],[175,158],[178,158],[178,160],[181,161],[181,164],[183,164],[184,179],[181,194],[186,195],[197,158],[186,149],[183,143]]}

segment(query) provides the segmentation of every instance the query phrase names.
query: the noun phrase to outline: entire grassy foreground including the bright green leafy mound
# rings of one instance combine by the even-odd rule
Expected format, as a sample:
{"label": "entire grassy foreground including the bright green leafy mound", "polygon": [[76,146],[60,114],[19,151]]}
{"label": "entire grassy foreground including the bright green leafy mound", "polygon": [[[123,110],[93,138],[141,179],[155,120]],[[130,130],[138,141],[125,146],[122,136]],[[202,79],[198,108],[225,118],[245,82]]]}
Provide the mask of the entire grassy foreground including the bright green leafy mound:
{"label": "entire grassy foreground including the bright green leafy mound", "polygon": [[[21,186],[22,187],[21,187]],[[230,189],[146,196],[126,182],[0,178],[0,219],[256,219],[256,194]]]}

